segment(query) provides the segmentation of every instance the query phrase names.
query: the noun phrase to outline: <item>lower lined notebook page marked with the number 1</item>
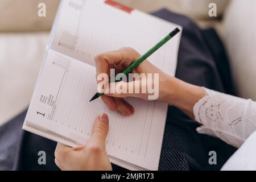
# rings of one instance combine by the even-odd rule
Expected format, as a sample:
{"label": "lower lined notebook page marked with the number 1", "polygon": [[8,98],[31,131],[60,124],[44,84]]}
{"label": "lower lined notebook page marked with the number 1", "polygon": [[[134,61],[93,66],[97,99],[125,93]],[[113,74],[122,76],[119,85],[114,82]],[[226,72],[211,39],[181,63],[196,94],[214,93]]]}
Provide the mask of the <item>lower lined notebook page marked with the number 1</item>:
{"label": "lower lined notebook page marked with the number 1", "polygon": [[94,119],[105,112],[110,121],[108,154],[135,166],[158,169],[167,105],[130,98],[133,116],[111,112],[100,99],[89,102],[97,88],[95,74],[91,65],[50,49],[24,125],[47,129],[77,146],[86,143]]}

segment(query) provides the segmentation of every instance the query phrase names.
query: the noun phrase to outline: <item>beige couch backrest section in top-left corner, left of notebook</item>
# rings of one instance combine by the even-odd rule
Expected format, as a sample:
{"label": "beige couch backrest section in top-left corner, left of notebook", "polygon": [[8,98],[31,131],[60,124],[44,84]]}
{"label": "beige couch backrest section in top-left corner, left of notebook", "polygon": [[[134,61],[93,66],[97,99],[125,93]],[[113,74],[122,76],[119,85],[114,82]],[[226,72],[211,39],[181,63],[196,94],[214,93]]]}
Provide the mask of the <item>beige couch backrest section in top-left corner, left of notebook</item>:
{"label": "beige couch backrest section in top-left corner, left of notebook", "polygon": [[[38,4],[46,4],[46,17],[38,16]],[[0,31],[50,30],[59,0],[1,0]]]}

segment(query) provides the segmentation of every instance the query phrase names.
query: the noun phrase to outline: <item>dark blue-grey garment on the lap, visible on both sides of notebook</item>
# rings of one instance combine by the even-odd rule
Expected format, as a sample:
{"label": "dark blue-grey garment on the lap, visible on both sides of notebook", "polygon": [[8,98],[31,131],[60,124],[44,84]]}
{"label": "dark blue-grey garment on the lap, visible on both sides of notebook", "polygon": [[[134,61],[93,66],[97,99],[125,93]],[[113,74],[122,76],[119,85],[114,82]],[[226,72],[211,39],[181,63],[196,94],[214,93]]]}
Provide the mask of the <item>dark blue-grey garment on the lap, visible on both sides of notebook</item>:
{"label": "dark blue-grey garment on the lap, visible on both sides of notebook", "polygon": [[[220,75],[220,70],[216,66],[216,59],[221,57],[209,49],[203,31],[195,23],[167,10],[158,11],[154,15],[183,26],[177,78],[220,92],[233,90],[232,86],[227,87],[222,81],[223,77],[230,75]],[[56,143],[22,131],[25,113],[26,111],[0,128],[0,169],[57,170],[54,164]],[[196,127],[196,123],[178,109],[169,107],[159,170],[220,169],[236,151],[236,148],[228,146],[219,139],[196,133]],[[40,150],[46,151],[47,165],[38,164]],[[217,152],[216,166],[208,164],[210,150]],[[113,168],[122,169],[117,166]]]}

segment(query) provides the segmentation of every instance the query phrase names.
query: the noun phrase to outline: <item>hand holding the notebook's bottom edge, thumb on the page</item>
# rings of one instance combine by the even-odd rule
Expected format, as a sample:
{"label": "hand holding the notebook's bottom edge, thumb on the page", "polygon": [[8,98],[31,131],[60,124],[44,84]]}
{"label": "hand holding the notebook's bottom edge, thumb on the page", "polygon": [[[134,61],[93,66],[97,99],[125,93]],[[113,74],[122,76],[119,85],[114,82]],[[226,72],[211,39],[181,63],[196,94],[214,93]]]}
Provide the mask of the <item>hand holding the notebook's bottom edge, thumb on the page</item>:
{"label": "hand holding the notebook's bottom edge, thumb on the page", "polygon": [[96,118],[92,137],[85,146],[71,148],[58,143],[55,163],[61,170],[69,171],[110,171],[112,166],[106,153],[105,140],[109,131],[108,115]]}

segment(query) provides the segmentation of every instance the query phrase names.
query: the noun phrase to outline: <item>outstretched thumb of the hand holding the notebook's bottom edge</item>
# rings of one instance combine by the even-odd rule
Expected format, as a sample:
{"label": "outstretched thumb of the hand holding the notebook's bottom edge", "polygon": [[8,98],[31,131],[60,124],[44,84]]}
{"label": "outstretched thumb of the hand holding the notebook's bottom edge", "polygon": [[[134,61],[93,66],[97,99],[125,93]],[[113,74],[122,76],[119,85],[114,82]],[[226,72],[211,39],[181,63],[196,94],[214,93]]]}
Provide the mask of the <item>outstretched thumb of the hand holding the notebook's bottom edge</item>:
{"label": "outstretched thumb of the hand holding the notebook's bottom edge", "polygon": [[98,146],[104,147],[105,150],[105,141],[109,132],[109,118],[106,114],[100,114],[93,126],[92,137],[90,142]]}

